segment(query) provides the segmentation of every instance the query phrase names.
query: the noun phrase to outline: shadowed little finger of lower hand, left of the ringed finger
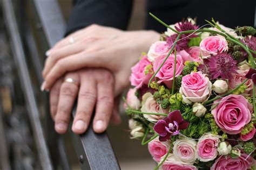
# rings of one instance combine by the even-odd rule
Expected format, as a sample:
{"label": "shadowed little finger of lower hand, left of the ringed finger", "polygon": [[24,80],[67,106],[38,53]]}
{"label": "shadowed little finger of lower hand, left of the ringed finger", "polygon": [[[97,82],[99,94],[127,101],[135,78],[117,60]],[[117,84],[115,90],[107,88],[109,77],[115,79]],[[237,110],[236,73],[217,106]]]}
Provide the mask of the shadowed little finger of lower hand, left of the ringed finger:
{"label": "shadowed little finger of lower hand, left of the ringed finger", "polygon": [[51,117],[53,121],[55,120],[55,115],[57,112],[58,101],[59,101],[59,91],[62,86],[63,79],[60,78],[57,82],[52,86],[50,90],[50,109],[51,109]]}

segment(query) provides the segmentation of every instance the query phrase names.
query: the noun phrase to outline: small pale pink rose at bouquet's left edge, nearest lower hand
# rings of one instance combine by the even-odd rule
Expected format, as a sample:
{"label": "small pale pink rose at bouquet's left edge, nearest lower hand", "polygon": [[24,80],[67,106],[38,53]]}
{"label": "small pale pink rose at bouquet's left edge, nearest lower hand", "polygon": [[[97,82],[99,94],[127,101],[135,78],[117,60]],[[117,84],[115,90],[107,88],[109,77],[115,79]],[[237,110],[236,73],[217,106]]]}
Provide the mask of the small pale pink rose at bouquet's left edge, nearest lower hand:
{"label": "small pale pink rose at bouquet's left edge, nearest lower hand", "polygon": [[[127,108],[127,104],[130,106],[131,109],[138,110],[140,108],[140,101],[138,97],[135,95],[136,88],[129,89],[126,95],[126,102],[124,103],[124,108]],[[127,103],[127,104],[126,104]]]}

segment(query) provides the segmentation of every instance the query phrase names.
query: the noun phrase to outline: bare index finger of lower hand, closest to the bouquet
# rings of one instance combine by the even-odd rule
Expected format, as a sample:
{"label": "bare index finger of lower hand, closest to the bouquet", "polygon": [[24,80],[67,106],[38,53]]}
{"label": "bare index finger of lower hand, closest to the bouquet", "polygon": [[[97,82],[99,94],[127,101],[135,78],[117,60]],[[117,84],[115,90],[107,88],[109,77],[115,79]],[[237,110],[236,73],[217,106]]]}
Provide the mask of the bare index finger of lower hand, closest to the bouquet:
{"label": "bare index finger of lower hand, closest to the bouquet", "polygon": [[102,133],[109,125],[113,111],[114,89],[112,74],[108,74],[108,72],[107,74],[102,74],[97,83],[97,104],[95,118],[93,119],[93,130],[96,133]]}

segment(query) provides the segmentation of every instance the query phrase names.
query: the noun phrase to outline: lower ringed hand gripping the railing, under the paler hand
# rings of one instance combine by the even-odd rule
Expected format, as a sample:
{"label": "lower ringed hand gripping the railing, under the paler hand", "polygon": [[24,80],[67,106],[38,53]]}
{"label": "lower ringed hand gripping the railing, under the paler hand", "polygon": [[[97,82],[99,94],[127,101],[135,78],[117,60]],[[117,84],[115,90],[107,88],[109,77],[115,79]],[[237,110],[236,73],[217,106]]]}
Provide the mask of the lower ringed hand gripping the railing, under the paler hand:
{"label": "lower ringed hand gripping the railing, under the paler hand", "polygon": [[[114,105],[114,79],[106,69],[80,69],[67,73],[59,79],[50,91],[51,115],[58,133],[68,130],[73,104],[77,100],[76,116],[72,131],[81,134],[86,131],[93,109],[93,130],[106,130],[110,118],[120,122],[118,104]],[[117,101],[118,102],[118,101]],[[112,116],[112,117],[111,117]]]}

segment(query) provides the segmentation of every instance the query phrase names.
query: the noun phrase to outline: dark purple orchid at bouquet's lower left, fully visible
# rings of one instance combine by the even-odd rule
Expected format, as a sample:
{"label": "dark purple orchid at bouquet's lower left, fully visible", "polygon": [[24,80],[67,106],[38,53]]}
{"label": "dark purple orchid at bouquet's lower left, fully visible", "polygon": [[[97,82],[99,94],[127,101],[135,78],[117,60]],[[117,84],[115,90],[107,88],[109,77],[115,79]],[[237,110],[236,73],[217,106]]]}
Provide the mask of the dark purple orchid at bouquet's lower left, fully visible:
{"label": "dark purple orchid at bouquet's lower left, fully visible", "polygon": [[160,141],[166,141],[170,139],[170,136],[179,134],[180,130],[187,129],[189,124],[183,119],[179,110],[174,110],[154,125],[154,131],[159,134]]}

